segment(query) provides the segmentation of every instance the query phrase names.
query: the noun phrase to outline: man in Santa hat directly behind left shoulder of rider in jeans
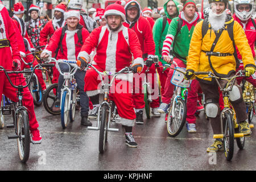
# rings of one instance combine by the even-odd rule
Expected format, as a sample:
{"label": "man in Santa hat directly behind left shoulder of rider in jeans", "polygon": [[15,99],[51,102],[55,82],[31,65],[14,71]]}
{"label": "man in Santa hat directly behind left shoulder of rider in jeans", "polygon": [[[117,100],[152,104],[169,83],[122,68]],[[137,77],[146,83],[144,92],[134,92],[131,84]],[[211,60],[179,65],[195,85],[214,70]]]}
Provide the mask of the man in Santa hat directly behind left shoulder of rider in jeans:
{"label": "man in Santa hat directly behind left shoulder of rider in jeans", "polygon": [[[64,13],[66,9],[67,9],[67,6],[64,5],[63,3],[55,7],[53,19],[49,20],[49,22],[46,23],[46,26],[44,26],[43,30],[40,32],[40,38],[39,38],[40,46],[46,46],[49,43],[49,39],[52,37],[55,30],[57,30],[57,28],[64,26],[65,24]],[[55,57],[55,55],[56,55],[56,52],[52,54],[52,57]],[[53,71],[52,83],[54,84],[58,82],[60,73],[59,71],[57,71],[56,67],[53,67],[52,71]]]}

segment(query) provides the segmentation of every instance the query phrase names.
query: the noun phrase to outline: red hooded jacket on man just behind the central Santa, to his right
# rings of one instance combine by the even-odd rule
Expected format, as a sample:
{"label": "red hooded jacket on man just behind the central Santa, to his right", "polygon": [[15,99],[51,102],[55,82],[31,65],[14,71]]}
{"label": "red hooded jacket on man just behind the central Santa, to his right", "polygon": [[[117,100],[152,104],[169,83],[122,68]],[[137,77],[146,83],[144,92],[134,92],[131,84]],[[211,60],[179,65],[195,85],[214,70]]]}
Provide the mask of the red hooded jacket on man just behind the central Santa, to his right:
{"label": "red hooded jacket on man just behind the central Santa, to his right", "polygon": [[[137,3],[138,6],[141,7],[137,1],[129,1],[126,4],[125,9],[127,9],[129,3],[133,2]],[[148,20],[141,16],[141,14],[142,11],[139,10],[138,18],[135,19],[135,22],[128,22],[126,19],[126,22],[123,22],[123,25],[136,32],[139,38],[139,43],[141,43],[143,54],[147,53],[148,55],[155,55],[155,42],[153,39],[152,28],[150,23],[148,23]]]}

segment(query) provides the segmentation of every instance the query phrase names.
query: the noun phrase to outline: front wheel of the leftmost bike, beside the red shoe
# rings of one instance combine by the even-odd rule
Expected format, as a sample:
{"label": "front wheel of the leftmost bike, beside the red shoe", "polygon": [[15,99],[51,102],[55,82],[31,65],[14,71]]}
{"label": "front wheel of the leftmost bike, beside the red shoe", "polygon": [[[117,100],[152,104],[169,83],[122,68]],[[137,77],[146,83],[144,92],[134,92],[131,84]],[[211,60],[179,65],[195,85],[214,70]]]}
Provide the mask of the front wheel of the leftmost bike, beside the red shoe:
{"label": "front wheel of the leftmost bike, beside the red shoe", "polygon": [[21,162],[26,163],[30,156],[30,124],[28,120],[28,113],[21,109],[16,115],[16,127],[19,158]]}

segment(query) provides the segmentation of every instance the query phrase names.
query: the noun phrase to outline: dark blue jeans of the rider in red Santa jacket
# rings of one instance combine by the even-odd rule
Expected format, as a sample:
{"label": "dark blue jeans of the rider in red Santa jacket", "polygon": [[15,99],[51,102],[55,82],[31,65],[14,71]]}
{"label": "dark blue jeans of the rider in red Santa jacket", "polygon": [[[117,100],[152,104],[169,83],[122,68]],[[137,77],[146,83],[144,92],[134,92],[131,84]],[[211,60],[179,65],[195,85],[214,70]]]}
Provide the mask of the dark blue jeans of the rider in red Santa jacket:
{"label": "dark blue jeans of the rider in red Santa jacket", "polygon": [[[61,72],[69,72],[69,67],[68,64],[65,63],[60,63],[59,64]],[[72,69],[73,67],[71,67]],[[80,71],[80,69],[77,69],[75,73],[75,78],[76,78],[76,83],[77,83],[77,88],[79,89],[80,92],[80,105],[81,105],[81,116],[88,116],[88,111],[89,111],[89,97],[87,94],[84,92],[84,77],[85,77],[85,71]],[[61,95],[61,89],[63,88],[63,83],[64,83],[64,77],[62,75],[59,76],[59,82],[58,82],[58,93],[57,93],[57,98],[60,99]]]}

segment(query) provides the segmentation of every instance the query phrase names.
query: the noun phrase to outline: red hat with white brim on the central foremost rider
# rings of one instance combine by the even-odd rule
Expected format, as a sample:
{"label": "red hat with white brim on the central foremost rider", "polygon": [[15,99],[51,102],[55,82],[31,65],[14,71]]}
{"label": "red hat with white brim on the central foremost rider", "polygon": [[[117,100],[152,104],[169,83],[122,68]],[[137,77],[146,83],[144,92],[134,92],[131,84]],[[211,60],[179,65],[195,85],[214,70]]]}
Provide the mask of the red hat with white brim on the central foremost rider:
{"label": "red hat with white brim on the central foremost rider", "polygon": [[108,15],[119,15],[125,21],[125,9],[121,4],[121,1],[117,1],[114,4],[107,6],[104,16],[106,17]]}

